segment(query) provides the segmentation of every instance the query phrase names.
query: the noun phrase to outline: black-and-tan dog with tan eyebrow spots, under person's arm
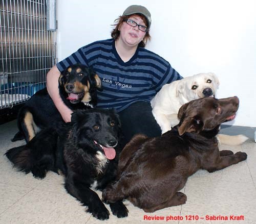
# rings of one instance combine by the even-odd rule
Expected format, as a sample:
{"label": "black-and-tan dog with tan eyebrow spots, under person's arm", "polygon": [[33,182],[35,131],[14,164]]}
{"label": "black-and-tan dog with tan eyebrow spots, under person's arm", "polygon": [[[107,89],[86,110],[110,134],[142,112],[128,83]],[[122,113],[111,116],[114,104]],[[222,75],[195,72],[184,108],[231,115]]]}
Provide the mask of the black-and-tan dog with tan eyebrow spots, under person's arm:
{"label": "black-and-tan dog with tan eyebrow spots, under person's arm", "polygon": [[[82,64],[69,66],[59,77],[60,97],[71,110],[94,107],[97,91],[101,90],[98,75]],[[29,142],[43,128],[54,127],[63,119],[55,107],[47,88],[36,92],[24,107],[20,108],[17,125],[19,132],[12,141]]]}

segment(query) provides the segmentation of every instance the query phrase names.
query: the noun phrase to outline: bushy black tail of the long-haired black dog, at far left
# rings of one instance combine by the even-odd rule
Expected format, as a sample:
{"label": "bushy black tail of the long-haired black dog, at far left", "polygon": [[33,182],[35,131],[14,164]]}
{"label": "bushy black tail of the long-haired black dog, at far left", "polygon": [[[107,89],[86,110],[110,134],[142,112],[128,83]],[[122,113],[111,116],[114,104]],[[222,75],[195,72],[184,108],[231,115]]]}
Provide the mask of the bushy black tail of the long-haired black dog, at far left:
{"label": "bushy black tail of the long-haired black dog, at far left", "polygon": [[5,155],[19,171],[29,173],[31,171],[31,150],[27,145],[11,148]]}

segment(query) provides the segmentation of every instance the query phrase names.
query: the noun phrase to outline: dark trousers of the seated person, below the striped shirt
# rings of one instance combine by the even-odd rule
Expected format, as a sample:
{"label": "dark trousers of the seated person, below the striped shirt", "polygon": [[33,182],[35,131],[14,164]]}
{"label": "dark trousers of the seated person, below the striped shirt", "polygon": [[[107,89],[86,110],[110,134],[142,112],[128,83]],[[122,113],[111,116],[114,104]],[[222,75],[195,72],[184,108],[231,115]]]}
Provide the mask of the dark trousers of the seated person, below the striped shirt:
{"label": "dark trousers of the seated person, below the striped shirt", "polygon": [[161,135],[161,129],[152,114],[150,102],[138,101],[119,112],[124,143],[131,140],[135,134],[145,134],[148,137]]}

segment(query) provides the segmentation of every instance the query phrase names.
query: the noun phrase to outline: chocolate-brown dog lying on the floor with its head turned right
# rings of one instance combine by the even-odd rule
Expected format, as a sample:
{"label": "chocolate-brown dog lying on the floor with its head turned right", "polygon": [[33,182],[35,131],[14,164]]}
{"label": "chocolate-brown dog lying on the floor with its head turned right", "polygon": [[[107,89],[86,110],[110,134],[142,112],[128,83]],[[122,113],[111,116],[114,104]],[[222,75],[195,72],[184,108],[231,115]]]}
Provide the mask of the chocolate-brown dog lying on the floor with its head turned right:
{"label": "chocolate-brown dog lying on the floor with its head turned right", "polygon": [[127,198],[145,212],[185,204],[179,192],[199,169],[214,172],[247,158],[246,153],[219,151],[216,135],[234,118],[238,97],[200,98],[179,110],[180,123],[161,137],[136,135],[124,147],[116,182],[105,188],[105,202]]}

